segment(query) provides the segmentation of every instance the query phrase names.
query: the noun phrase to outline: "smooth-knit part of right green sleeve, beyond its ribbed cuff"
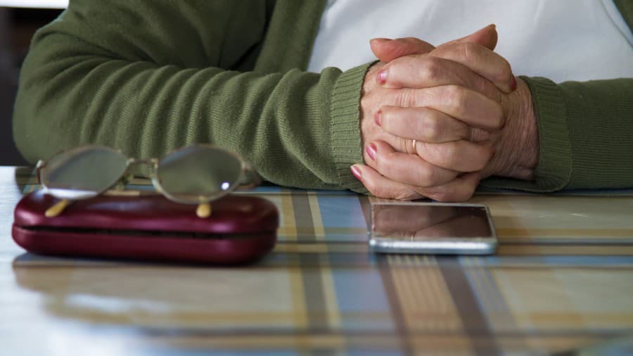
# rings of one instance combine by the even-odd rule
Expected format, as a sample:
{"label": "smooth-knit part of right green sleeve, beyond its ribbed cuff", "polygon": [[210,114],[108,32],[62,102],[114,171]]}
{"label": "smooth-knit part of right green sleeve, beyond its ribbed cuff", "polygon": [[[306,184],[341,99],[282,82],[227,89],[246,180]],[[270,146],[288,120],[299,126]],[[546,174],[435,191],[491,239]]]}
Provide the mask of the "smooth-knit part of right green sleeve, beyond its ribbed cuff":
{"label": "smooth-knit part of right green sleeve, beyond its ribbed cuff", "polygon": [[567,189],[633,186],[633,78],[559,84],[568,115]]}

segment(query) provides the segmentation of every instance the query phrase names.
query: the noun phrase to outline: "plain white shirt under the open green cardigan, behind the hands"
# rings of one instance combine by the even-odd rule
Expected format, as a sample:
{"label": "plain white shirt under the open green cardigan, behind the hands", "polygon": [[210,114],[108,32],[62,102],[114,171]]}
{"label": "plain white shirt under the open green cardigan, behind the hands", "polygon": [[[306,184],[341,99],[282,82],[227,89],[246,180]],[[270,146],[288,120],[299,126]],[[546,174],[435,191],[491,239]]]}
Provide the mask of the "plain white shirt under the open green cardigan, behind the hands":
{"label": "plain white shirt under the open green cardigan, behind the hands", "polygon": [[633,34],[611,0],[328,0],[308,69],[373,61],[374,37],[437,46],[490,23],[499,32],[495,51],[516,75],[633,77]]}

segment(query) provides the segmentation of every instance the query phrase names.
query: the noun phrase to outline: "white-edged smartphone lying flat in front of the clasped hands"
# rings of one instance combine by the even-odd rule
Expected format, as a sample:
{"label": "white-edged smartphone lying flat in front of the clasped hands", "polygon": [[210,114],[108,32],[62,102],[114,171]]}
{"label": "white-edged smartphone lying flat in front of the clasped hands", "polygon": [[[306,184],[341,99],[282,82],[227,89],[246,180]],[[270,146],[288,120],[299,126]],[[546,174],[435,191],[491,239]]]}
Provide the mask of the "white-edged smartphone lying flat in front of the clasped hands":
{"label": "white-edged smartphone lying flat in front of the clasped hands", "polygon": [[482,204],[372,203],[369,246],[376,253],[489,255],[497,234]]}

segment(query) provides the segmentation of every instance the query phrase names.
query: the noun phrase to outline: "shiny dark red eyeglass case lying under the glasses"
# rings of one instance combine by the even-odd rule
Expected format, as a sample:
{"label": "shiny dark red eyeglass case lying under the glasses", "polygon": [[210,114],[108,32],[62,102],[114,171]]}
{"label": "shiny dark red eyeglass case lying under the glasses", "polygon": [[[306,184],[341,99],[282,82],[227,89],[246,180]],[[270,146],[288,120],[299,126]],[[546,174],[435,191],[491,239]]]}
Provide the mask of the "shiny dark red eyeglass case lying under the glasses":
{"label": "shiny dark red eyeglass case lying under the glasses", "polygon": [[279,227],[275,205],[254,196],[224,196],[205,218],[159,195],[98,196],[45,217],[57,202],[41,191],[23,197],[13,240],[43,255],[237,265],[269,253]]}

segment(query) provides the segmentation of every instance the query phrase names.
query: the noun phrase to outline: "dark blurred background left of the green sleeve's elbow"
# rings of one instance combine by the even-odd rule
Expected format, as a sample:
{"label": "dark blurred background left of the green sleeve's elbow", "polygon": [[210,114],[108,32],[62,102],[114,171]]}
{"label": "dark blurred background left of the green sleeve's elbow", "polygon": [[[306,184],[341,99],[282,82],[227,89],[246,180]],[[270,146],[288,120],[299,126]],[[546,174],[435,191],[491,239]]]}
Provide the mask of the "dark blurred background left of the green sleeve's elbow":
{"label": "dark blurred background left of the green sleeve's elbow", "polygon": [[63,3],[55,0],[0,0],[0,165],[26,164],[13,144],[11,132],[20,64],[34,32],[54,20],[63,11]]}

